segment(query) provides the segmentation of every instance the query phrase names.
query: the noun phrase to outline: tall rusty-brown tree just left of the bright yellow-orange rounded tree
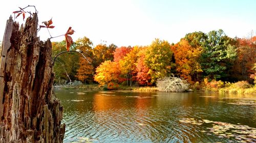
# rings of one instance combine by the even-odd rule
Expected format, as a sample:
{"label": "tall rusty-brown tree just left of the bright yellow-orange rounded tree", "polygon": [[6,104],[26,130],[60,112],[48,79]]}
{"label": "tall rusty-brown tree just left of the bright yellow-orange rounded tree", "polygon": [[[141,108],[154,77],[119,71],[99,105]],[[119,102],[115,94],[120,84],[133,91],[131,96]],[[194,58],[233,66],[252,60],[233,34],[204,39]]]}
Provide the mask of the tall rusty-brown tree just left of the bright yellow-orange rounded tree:
{"label": "tall rusty-brown tree just left of the bright yellow-orange rounded tree", "polygon": [[92,41],[87,38],[79,38],[75,42],[76,48],[80,49],[84,54],[87,55],[87,59],[85,59],[82,55],[80,55],[79,58],[79,68],[77,69],[76,77],[78,80],[86,82],[92,82],[93,81],[93,74],[95,72],[95,69],[93,67],[93,43]]}

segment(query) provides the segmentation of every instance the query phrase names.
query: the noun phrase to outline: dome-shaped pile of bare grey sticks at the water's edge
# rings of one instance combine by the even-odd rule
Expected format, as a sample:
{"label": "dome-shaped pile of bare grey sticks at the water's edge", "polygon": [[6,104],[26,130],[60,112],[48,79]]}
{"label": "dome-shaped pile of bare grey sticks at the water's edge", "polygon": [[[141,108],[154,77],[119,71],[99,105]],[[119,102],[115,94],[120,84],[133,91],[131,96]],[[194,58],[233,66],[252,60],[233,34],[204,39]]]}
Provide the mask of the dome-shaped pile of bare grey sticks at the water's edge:
{"label": "dome-shaped pile of bare grey sticks at the water's edge", "polygon": [[184,92],[188,89],[188,85],[186,80],[174,76],[157,80],[158,90],[163,92]]}

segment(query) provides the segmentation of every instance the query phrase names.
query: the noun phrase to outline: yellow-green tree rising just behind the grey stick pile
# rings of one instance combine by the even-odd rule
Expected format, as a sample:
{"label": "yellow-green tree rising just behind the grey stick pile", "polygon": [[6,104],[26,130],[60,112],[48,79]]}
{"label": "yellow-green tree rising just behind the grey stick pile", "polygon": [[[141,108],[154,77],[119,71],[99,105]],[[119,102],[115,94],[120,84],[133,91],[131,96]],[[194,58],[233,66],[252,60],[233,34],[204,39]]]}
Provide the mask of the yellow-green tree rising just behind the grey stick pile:
{"label": "yellow-green tree rising just behind the grey stick pile", "polygon": [[172,55],[170,44],[167,41],[155,39],[147,48],[145,55],[145,64],[150,70],[151,82],[156,79],[168,76],[172,68]]}

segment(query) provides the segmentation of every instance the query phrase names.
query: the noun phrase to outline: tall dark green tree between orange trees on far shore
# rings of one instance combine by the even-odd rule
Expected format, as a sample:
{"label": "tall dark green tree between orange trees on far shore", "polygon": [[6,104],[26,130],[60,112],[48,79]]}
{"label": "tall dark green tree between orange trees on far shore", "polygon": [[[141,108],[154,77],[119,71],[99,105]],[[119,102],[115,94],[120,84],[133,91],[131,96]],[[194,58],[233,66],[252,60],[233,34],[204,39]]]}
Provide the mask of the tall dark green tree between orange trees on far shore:
{"label": "tall dark green tree between orange trees on far shore", "polygon": [[203,45],[201,67],[204,76],[219,79],[227,77],[229,70],[236,59],[237,47],[232,45],[232,39],[222,30],[211,31]]}

